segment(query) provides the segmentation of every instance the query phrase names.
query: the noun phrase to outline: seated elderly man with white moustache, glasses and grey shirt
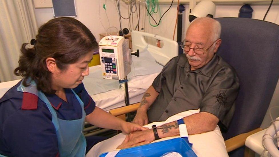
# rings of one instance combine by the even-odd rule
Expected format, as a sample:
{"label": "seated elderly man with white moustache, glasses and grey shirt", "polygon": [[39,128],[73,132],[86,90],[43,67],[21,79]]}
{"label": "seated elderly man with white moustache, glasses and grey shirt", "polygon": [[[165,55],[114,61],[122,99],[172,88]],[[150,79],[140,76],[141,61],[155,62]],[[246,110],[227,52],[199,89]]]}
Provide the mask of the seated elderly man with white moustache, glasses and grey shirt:
{"label": "seated elderly man with white moustache, glasses and grey shirt", "polygon": [[[228,127],[234,113],[239,81],[234,69],[218,54],[220,23],[209,17],[195,19],[181,47],[185,54],[172,58],[142,98],[133,120],[145,125],[164,121],[179,112],[200,109],[184,117],[188,134],[212,131],[218,122]],[[177,121],[157,127],[159,138],[179,134]],[[137,134],[154,140],[152,130]],[[134,135],[135,136],[135,135]]]}

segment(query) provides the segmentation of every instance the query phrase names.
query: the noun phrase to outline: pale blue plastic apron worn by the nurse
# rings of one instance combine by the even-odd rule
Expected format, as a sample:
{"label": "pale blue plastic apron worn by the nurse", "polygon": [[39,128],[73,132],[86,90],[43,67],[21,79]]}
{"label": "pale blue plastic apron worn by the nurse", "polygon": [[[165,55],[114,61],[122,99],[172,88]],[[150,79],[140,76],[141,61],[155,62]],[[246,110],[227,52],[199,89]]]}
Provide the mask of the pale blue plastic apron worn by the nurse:
{"label": "pale blue plastic apron worn by the nurse", "polygon": [[[73,90],[72,92],[75,94],[82,108],[82,118],[77,120],[61,120],[57,118],[57,114],[49,100],[43,92],[37,90],[37,85],[34,81],[31,81],[28,87],[23,86],[21,83],[17,91],[35,94],[47,105],[47,108],[52,114],[52,123],[56,130],[59,156],[85,156],[86,140],[82,132],[85,121],[85,111],[83,109],[83,102]],[[0,154],[0,156],[3,155]]]}

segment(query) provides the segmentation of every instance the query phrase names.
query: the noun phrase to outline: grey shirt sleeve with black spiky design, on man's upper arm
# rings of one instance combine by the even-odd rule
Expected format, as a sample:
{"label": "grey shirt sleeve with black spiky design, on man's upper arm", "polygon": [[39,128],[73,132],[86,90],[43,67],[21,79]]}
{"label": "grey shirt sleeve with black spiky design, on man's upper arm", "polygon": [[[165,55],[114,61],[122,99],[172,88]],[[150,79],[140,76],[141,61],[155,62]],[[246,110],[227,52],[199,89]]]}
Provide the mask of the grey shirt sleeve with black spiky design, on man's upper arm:
{"label": "grey shirt sleeve with black spiky design, on man's upper arm", "polygon": [[200,112],[209,112],[218,117],[223,124],[228,124],[228,122],[224,122],[224,116],[234,105],[238,90],[239,82],[237,77],[216,76],[214,82],[204,94]]}

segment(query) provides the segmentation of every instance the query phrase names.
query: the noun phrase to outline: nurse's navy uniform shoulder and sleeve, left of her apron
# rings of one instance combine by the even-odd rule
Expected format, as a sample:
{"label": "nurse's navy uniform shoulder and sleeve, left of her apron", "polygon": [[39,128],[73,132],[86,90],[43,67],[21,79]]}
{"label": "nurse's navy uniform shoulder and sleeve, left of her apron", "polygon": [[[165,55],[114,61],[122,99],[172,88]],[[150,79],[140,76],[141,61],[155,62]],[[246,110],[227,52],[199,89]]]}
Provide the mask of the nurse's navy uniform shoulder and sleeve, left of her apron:
{"label": "nurse's navy uniform shoulder and sleeve, left of her apron", "polygon": [[[29,109],[23,110],[24,94],[17,91],[20,84],[21,81],[0,99],[0,154],[55,156],[58,145],[52,115],[40,99],[37,103],[29,100]],[[44,146],[37,141],[44,141]]]}

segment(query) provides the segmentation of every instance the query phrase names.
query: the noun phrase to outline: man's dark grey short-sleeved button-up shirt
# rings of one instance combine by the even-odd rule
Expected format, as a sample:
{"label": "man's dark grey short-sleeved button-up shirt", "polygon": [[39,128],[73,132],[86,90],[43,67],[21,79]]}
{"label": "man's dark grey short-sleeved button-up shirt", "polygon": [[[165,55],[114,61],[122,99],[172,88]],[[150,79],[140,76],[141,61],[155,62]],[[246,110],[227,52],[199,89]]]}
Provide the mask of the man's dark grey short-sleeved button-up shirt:
{"label": "man's dark grey short-sleeved button-up shirt", "polygon": [[239,81],[234,69],[219,55],[194,71],[185,54],[172,58],[155,78],[159,92],[148,110],[150,122],[163,121],[187,110],[200,108],[219,118],[228,127],[235,110]]}

